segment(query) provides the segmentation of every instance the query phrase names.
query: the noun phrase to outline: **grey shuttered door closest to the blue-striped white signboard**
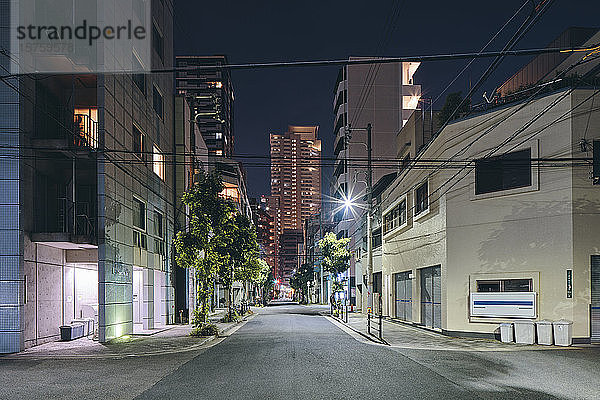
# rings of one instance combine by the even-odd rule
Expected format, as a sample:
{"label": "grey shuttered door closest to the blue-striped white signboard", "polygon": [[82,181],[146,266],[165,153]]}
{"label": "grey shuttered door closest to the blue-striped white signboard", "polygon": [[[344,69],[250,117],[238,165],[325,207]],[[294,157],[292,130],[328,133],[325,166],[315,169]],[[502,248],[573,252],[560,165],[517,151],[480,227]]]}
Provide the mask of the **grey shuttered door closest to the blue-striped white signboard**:
{"label": "grey shuttered door closest to the blue-striped white signboard", "polygon": [[442,272],[439,265],[423,268],[421,274],[421,323],[442,327]]}

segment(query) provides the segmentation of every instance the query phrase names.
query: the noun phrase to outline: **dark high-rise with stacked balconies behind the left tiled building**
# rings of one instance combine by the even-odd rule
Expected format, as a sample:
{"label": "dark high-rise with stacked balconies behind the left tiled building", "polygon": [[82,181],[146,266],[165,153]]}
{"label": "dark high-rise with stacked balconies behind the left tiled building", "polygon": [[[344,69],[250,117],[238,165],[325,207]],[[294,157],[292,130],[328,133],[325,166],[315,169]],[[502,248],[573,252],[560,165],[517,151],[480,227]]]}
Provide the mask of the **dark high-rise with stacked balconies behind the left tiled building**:
{"label": "dark high-rise with stacked balconies behind the left tiled building", "polygon": [[[233,155],[233,85],[226,56],[177,56],[177,94],[188,98],[209,156]],[[201,67],[201,68],[195,68]],[[214,68],[210,68],[214,67]]]}

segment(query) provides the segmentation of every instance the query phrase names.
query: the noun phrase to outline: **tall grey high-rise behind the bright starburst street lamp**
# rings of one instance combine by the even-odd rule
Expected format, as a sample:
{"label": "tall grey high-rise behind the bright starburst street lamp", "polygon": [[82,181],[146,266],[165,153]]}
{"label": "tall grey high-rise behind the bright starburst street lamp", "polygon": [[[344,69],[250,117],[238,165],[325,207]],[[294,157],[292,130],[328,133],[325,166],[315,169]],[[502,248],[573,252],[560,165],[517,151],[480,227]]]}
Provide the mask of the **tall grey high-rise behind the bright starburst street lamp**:
{"label": "tall grey high-rise behind the bright starburst street lamp", "polygon": [[[350,58],[357,59],[360,58]],[[331,193],[336,198],[349,197],[358,203],[363,202],[367,180],[365,128],[368,124],[372,126],[373,160],[396,159],[396,134],[414,110],[420,108],[421,86],[413,82],[419,65],[415,62],[355,64],[340,69],[333,101],[336,161]],[[407,145],[410,146],[410,143]],[[397,164],[390,162],[389,165],[389,168],[384,168],[380,163],[373,168],[373,184],[384,175],[397,171]],[[355,238],[361,224],[365,223],[365,208],[355,208],[354,214],[342,209],[333,216],[337,223],[335,232],[338,237],[351,238],[350,248],[355,254],[360,253],[363,246],[366,248],[362,238]],[[366,273],[366,266],[361,270],[359,265],[358,272],[356,267],[353,257],[348,277],[351,288],[356,286],[355,276]],[[327,290],[330,289],[328,287]],[[349,292],[351,302],[355,304],[355,296],[352,295],[355,291],[351,289]]]}

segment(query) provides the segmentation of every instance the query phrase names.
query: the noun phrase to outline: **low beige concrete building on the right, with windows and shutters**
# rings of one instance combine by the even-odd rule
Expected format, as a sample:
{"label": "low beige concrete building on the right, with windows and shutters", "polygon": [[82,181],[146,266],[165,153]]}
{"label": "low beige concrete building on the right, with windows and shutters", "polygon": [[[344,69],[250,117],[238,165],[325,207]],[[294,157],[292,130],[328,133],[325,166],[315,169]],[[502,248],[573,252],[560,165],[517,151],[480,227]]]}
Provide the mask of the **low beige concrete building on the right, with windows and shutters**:
{"label": "low beige concrete building on the right, with windows and shutters", "polygon": [[381,196],[384,315],[481,337],[566,319],[576,342],[600,339],[600,191],[590,163],[549,161],[591,157],[598,100],[567,87],[452,122],[422,158],[474,162],[398,175]]}

